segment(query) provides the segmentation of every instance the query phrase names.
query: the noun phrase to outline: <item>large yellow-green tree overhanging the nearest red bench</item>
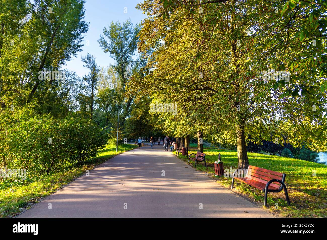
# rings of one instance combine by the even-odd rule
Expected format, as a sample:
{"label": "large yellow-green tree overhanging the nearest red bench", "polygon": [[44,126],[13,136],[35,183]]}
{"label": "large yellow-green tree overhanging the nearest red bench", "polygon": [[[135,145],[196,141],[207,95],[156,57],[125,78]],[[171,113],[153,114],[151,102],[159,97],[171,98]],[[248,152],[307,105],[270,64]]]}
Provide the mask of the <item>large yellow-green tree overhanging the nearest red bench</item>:
{"label": "large yellow-green tree overhanging the nearest red bench", "polygon": [[249,135],[326,149],[324,3],[177,2],[138,5],[149,15],[140,31],[150,70],[141,91],[169,93],[183,104],[181,119],[236,142],[238,168],[249,165]]}

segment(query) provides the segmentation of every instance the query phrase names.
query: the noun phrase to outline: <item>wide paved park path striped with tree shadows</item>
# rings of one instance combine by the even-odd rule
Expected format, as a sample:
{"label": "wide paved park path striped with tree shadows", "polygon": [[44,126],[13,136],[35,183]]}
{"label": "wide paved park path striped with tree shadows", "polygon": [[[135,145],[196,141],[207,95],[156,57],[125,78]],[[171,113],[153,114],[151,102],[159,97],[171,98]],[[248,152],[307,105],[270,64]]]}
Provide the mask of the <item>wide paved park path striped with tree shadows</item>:
{"label": "wide paved park path striped with tree shadows", "polygon": [[156,145],[115,156],[17,217],[271,216]]}

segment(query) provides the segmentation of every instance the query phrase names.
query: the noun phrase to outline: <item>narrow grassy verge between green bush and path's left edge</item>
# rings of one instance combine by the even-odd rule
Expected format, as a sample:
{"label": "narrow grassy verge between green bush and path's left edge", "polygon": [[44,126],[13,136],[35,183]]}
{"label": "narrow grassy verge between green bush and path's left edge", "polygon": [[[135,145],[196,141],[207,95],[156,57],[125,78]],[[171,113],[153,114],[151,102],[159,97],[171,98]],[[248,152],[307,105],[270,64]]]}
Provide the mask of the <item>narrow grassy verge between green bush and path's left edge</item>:
{"label": "narrow grassy verge between green bush and path's left edge", "polygon": [[85,162],[84,165],[43,176],[42,179],[28,185],[0,190],[0,216],[12,217],[18,215],[33,203],[56,192],[63,185],[84,174],[86,170],[91,170],[109,158],[134,148],[136,148],[136,145],[122,144],[118,146],[118,152],[116,152],[115,146],[108,146],[105,150],[99,152],[99,157]]}

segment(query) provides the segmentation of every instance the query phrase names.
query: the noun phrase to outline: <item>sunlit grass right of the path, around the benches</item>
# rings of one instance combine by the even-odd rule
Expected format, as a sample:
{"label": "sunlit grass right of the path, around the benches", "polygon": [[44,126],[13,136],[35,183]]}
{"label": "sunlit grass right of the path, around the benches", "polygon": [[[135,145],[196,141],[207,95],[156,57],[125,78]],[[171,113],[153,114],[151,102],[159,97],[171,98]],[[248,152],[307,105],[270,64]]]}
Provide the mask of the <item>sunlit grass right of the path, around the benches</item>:
{"label": "sunlit grass right of the path, around the benches", "polygon": [[[189,151],[196,153],[196,149]],[[204,163],[197,164],[197,169],[214,175],[214,161],[218,160],[218,153],[224,169],[237,168],[237,152],[205,148],[207,168]],[[267,204],[268,209],[285,217],[326,217],[327,213],[327,166],[319,163],[303,161],[294,158],[265,155],[260,153],[248,153],[249,162],[252,166],[267,168],[270,170],[283,172],[286,174],[285,184],[288,190],[291,206],[288,206],[285,199],[284,190],[279,193],[269,193]],[[186,156],[181,156],[183,161],[187,161]],[[190,162],[194,167],[194,161]],[[215,177],[219,184],[230,188],[232,179],[227,177]],[[255,202],[263,205],[264,194],[257,188],[235,181],[234,190],[245,194]],[[278,205],[275,205],[275,204]],[[276,207],[278,207],[276,209]]]}

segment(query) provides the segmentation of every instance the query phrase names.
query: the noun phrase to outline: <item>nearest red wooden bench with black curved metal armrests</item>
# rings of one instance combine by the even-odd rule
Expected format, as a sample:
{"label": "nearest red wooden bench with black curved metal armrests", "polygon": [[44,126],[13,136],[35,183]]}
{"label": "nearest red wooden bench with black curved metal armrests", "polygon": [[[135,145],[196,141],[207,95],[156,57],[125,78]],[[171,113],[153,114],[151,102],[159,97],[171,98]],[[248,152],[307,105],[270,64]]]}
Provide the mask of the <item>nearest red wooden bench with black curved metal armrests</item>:
{"label": "nearest red wooden bench with black curved metal armrests", "polygon": [[234,171],[232,176],[232,188],[234,187],[234,179],[236,179],[262,190],[265,193],[265,206],[267,206],[268,192],[278,193],[284,188],[287,204],[291,205],[285,186],[285,173],[275,172],[265,168],[258,168],[249,165],[249,168],[246,172],[246,177],[244,178],[240,176],[235,177],[235,173],[237,173],[237,171],[238,170]]}

